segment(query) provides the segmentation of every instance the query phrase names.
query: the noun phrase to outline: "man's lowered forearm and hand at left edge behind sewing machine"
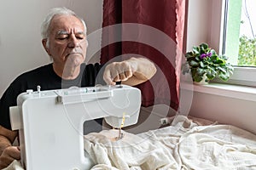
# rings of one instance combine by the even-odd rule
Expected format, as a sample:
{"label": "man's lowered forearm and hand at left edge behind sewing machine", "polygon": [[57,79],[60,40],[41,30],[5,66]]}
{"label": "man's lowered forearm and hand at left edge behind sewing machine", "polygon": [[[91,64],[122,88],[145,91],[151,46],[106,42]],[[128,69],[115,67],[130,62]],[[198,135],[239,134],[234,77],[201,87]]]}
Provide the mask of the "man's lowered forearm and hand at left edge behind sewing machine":
{"label": "man's lowered forearm and hand at left edge behind sewing machine", "polygon": [[8,167],[14,160],[20,160],[20,150],[12,146],[17,132],[0,126],[0,169]]}

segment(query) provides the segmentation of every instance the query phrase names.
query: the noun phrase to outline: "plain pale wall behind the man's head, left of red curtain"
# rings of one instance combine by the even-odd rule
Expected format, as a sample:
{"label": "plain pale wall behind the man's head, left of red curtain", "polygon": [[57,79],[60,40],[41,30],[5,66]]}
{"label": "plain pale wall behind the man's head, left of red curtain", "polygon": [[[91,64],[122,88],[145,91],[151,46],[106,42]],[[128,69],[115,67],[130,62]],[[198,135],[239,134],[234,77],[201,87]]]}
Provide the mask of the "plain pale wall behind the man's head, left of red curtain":
{"label": "plain pale wall behind the man's head, left of red curtain", "polygon": [[65,6],[73,9],[85,20],[90,34],[102,27],[102,2],[102,0],[2,0],[0,96],[20,73],[50,62],[41,45],[40,36],[41,22],[49,8]]}

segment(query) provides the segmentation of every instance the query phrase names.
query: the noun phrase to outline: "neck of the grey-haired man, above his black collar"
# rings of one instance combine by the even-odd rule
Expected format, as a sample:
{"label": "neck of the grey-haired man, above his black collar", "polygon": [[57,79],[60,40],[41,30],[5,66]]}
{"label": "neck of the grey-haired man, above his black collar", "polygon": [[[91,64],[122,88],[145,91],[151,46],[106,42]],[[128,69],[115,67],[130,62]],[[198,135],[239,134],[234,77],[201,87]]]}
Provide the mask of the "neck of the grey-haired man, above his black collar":
{"label": "neck of the grey-haired man, above his black collar", "polygon": [[80,65],[73,67],[67,65],[59,66],[53,64],[53,69],[59,77],[65,80],[73,80],[78,77],[80,73]]}

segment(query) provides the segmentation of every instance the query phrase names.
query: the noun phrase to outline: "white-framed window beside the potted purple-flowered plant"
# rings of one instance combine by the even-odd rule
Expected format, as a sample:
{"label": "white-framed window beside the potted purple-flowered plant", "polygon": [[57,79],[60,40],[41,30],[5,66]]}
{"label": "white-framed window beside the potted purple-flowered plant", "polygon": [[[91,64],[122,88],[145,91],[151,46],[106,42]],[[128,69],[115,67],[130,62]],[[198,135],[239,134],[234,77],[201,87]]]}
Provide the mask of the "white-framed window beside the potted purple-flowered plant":
{"label": "white-framed window beside the potted purple-flowered plant", "polygon": [[255,0],[212,1],[212,11],[222,9],[220,20],[214,20],[212,16],[212,22],[222,23],[219,51],[227,55],[235,67],[228,83],[256,87],[255,5]]}

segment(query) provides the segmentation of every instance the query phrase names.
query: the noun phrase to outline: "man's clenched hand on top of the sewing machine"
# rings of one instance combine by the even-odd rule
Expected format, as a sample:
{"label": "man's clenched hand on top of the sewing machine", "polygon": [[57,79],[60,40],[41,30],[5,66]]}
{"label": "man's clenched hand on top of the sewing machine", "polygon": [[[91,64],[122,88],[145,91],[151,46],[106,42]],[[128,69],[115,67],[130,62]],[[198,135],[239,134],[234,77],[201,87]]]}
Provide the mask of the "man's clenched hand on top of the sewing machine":
{"label": "man's clenched hand on top of the sewing machine", "polygon": [[115,82],[126,81],[133,75],[132,65],[127,61],[114,62],[107,65],[104,71],[104,81],[110,85]]}

